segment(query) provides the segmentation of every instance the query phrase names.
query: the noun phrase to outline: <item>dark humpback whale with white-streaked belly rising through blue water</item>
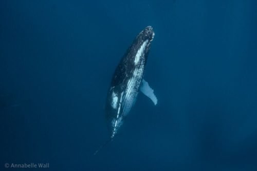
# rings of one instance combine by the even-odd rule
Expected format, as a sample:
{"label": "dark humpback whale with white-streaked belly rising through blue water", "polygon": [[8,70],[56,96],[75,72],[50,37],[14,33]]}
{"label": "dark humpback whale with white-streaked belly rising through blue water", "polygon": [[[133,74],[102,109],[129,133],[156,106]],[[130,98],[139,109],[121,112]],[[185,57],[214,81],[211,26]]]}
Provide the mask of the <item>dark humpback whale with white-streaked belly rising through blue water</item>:
{"label": "dark humpback whale with white-streaked belly rising through blue water", "polygon": [[113,74],[105,103],[105,116],[110,139],[100,148],[114,139],[124,118],[135,104],[139,91],[148,96],[155,105],[157,104],[157,98],[154,95],[153,89],[143,79],[154,35],[155,33],[151,26],[143,29],[127,49]]}

